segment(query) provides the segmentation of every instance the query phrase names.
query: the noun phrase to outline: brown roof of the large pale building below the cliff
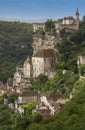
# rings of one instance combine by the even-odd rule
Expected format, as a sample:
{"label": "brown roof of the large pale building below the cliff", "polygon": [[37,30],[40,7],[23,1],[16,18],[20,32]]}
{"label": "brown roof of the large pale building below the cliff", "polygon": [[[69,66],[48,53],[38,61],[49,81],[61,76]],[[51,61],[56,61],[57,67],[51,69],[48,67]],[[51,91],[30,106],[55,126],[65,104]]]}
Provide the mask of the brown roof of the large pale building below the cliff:
{"label": "brown roof of the large pale building below the cliff", "polygon": [[47,58],[47,57],[54,57],[54,50],[53,49],[41,49],[33,57],[41,57],[41,58]]}

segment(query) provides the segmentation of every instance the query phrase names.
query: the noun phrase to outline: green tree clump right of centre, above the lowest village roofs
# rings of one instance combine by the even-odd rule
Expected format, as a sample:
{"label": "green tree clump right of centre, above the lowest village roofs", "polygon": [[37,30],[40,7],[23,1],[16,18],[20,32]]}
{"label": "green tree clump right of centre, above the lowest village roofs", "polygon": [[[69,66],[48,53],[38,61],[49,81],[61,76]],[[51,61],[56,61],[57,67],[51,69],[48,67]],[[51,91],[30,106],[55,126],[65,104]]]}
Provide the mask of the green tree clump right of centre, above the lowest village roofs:
{"label": "green tree clump right of centre, above the lowest village roofs", "polygon": [[69,97],[78,78],[79,76],[71,71],[59,70],[51,80],[44,84],[43,91],[51,91],[62,97]]}

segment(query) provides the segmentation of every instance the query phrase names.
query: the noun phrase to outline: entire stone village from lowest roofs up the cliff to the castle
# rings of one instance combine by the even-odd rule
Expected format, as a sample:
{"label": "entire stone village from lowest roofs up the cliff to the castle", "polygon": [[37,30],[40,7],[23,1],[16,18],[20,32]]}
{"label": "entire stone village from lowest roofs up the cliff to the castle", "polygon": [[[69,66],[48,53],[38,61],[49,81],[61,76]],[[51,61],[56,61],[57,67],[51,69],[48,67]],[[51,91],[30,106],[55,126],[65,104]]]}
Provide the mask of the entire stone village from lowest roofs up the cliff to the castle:
{"label": "entire stone village from lowest roofs up the cliff to the castle", "polygon": [[[32,57],[27,57],[23,65],[17,66],[13,79],[9,78],[4,89],[3,87],[0,88],[0,94],[18,94],[18,99],[14,104],[9,104],[9,107],[15,109],[15,112],[19,112],[21,115],[25,113],[25,105],[30,102],[35,104],[32,110],[33,113],[49,116],[57,113],[69,101],[68,98],[63,99],[61,95],[52,94],[51,92],[41,94],[39,91],[30,90],[30,79],[36,79],[40,74],[46,75],[48,79],[55,76],[56,70],[53,65],[57,62],[58,52],[56,45],[61,41],[59,37],[60,31],[65,29],[66,32],[75,32],[79,29],[78,9],[76,10],[75,18],[71,16],[64,17],[61,20],[53,21],[53,23],[55,24],[55,34],[53,32],[45,32],[44,36],[36,32],[39,29],[45,31],[45,23],[33,23]],[[78,66],[85,64],[85,56],[78,56],[78,61],[76,62]],[[4,98],[4,103],[8,103],[6,98]]]}

